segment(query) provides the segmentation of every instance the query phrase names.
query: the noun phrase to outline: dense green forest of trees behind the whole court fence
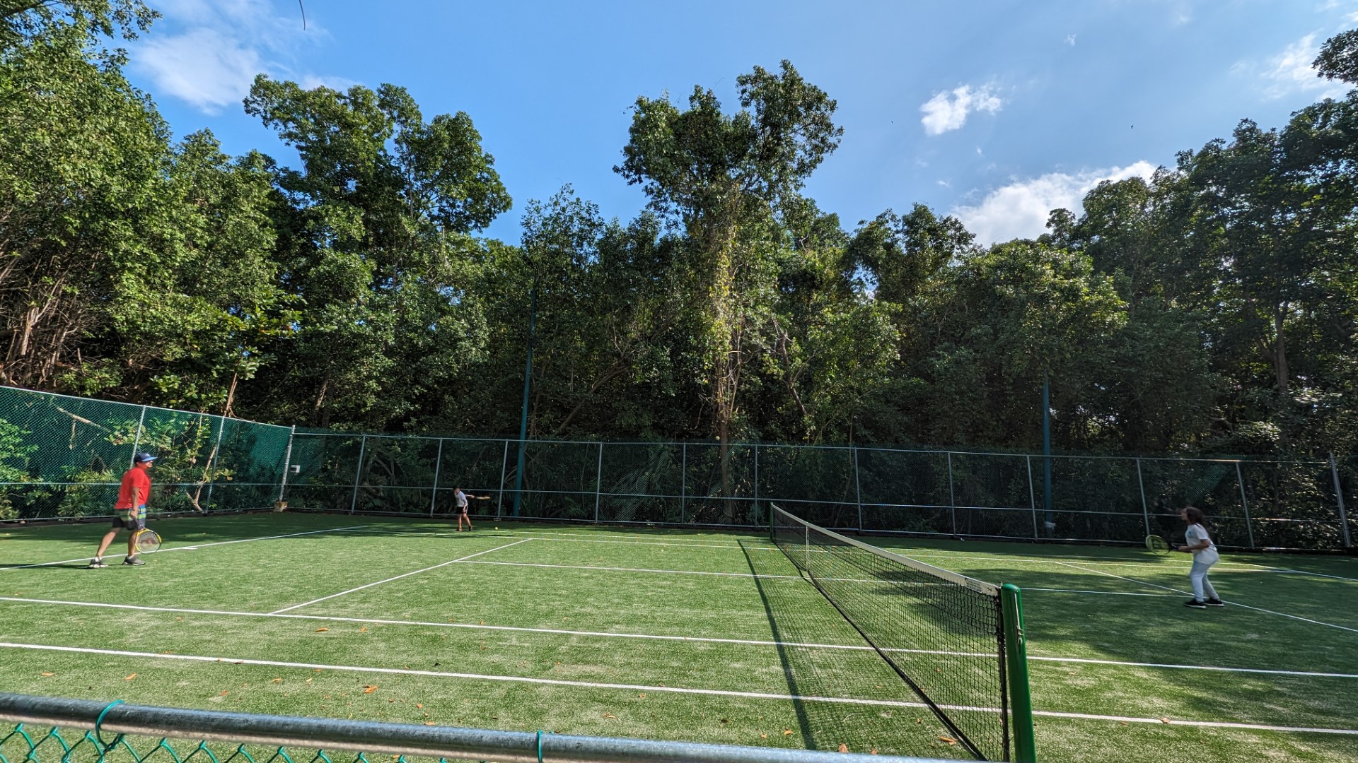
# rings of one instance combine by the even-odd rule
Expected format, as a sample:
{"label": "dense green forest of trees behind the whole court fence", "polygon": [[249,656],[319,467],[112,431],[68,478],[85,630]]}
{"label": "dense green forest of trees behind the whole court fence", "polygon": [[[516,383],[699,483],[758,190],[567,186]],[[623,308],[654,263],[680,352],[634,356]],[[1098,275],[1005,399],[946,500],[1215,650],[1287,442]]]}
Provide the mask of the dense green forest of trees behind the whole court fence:
{"label": "dense green forest of trees behind the whole court fence", "polygon": [[[1243,119],[1036,240],[804,194],[842,140],[784,61],[640,96],[606,220],[512,204],[469,114],[259,76],[296,149],[172,140],[140,0],[4,1],[0,383],[364,430],[1320,455],[1358,444],[1358,91]],[[1320,75],[1358,84],[1358,30]],[[1229,125],[1224,126],[1229,129]],[[520,215],[519,242],[483,231]]]}

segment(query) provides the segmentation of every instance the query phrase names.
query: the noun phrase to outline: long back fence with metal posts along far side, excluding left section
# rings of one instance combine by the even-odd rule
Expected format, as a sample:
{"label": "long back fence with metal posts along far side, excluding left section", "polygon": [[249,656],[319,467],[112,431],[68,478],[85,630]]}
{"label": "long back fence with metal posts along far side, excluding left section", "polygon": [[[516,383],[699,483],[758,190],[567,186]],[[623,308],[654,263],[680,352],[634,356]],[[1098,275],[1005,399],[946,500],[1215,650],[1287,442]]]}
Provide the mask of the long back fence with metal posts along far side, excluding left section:
{"label": "long back fence with metal posts along far side, excluding left section", "polygon": [[1040,456],[714,443],[528,441],[297,432],[295,508],[763,527],[777,501],[835,529],[1141,543],[1195,505],[1218,542],[1344,548],[1358,459]]}

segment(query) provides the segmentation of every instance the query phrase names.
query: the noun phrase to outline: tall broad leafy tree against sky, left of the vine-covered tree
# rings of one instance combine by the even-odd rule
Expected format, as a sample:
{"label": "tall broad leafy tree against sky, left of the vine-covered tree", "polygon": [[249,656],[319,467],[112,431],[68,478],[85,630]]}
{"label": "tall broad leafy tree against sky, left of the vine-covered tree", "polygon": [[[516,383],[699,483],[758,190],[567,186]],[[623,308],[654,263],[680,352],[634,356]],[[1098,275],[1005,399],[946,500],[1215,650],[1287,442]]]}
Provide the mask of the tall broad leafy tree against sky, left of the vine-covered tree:
{"label": "tall broad leafy tree against sky, left of the vine-covered tree", "polygon": [[473,234],[511,205],[471,118],[425,122],[390,84],[338,92],[262,75],[246,111],[301,157],[276,172],[282,286],[299,316],[257,405],[322,426],[420,415],[485,349],[467,292],[485,254]]}

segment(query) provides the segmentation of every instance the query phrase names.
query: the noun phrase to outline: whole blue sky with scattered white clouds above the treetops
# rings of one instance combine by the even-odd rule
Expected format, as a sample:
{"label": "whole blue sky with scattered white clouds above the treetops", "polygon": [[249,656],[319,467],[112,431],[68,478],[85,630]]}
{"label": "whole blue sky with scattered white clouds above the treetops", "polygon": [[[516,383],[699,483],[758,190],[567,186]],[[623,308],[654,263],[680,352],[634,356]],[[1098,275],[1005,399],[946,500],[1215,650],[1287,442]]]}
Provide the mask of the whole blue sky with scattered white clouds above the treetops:
{"label": "whole blue sky with scattered white clouds above the treetops", "polygon": [[293,155],[242,110],[257,72],[410,90],[425,118],[466,111],[515,209],[564,183],[623,220],[644,205],[612,172],[638,95],[694,84],[735,109],[736,76],[788,58],[838,100],[839,149],[807,186],[846,228],[923,202],[982,242],[1035,236],[1103,178],[1145,175],[1281,126],[1343,88],[1310,71],[1358,26],[1358,0],[896,0],[456,3],[151,0],[132,80],[177,136]]}

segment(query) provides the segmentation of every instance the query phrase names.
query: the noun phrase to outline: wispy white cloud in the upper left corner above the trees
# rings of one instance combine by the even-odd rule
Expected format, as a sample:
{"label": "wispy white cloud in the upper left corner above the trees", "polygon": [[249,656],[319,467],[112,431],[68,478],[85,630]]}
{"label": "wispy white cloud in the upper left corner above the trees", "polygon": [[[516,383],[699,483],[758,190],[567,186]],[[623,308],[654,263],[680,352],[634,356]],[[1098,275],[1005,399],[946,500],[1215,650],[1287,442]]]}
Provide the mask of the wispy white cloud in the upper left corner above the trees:
{"label": "wispy white cloud in the upper left corner above the trees", "polygon": [[163,26],[133,48],[132,62],[151,79],[156,95],[216,114],[239,103],[258,73],[308,87],[353,84],[295,72],[289,62],[296,50],[325,33],[311,20],[303,31],[299,14],[274,14],[268,0],[160,0],[153,5],[164,14]]}

